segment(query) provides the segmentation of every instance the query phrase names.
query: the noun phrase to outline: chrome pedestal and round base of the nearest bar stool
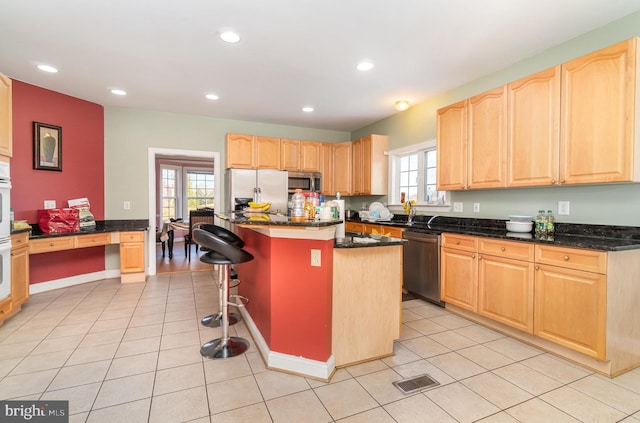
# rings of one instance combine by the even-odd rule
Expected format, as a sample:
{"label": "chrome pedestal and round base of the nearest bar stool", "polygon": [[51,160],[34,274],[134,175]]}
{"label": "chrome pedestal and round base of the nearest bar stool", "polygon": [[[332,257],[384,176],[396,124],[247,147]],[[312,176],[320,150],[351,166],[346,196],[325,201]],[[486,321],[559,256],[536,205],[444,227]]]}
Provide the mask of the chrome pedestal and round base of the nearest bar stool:
{"label": "chrome pedestal and round base of the nearest bar stool", "polygon": [[219,319],[222,337],[205,343],[200,354],[208,358],[231,358],[243,354],[249,349],[249,341],[237,336],[229,336],[229,265],[218,266],[218,283],[222,285],[222,316]]}

